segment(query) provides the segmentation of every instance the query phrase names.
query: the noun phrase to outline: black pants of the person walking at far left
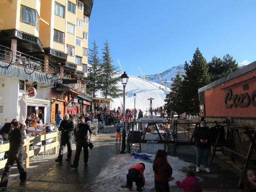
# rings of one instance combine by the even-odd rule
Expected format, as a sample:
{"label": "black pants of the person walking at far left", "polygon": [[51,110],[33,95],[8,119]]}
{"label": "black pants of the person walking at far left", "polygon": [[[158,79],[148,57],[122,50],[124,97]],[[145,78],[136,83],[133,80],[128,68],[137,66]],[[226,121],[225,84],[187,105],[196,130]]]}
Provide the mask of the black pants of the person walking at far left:
{"label": "black pants of the person walking at far left", "polygon": [[10,175],[10,169],[11,166],[13,165],[14,161],[16,161],[17,168],[19,171],[19,179],[20,180],[25,180],[26,179],[26,170],[23,165],[23,154],[17,154],[17,153],[11,153],[9,152],[7,162],[4,166],[4,170],[2,173],[2,178],[0,182],[0,186],[6,187],[8,184],[8,178]]}

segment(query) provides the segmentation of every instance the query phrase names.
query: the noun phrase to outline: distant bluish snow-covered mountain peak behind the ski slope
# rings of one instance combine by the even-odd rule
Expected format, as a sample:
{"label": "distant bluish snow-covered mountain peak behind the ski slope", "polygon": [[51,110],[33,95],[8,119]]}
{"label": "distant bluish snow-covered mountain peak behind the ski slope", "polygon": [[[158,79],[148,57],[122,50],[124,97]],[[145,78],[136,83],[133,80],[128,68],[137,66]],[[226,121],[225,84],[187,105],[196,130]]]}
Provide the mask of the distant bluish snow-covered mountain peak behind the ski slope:
{"label": "distant bluish snow-covered mountain peak behind the ski slope", "polygon": [[[167,87],[170,87],[170,85],[172,84],[171,78],[174,78],[178,72],[180,73],[180,75],[184,73],[184,64],[173,66],[173,67],[159,73],[159,75],[160,75],[161,79],[163,80],[164,84]],[[143,78],[142,76],[138,76],[138,77]],[[157,73],[156,74],[147,74],[147,75],[145,75],[145,78],[146,78],[146,80],[160,83],[160,78]],[[161,84],[162,84],[162,82],[161,82]]]}

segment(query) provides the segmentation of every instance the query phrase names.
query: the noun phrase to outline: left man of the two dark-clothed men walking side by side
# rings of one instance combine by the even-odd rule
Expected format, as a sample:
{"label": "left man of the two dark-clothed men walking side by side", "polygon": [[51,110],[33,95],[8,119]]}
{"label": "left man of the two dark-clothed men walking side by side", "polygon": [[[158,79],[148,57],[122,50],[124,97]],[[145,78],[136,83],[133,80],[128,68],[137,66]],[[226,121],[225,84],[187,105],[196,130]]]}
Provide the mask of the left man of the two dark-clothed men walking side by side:
{"label": "left man of the two dark-clothed men walking side by side", "polygon": [[58,157],[55,159],[56,162],[61,163],[62,157],[63,157],[63,150],[65,148],[65,145],[67,146],[67,155],[66,160],[70,160],[72,155],[72,131],[74,130],[74,123],[71,119],[69,119],[68,113],[64,114],[64,120],[60,122],[60,125],[58,127],[58,130],[61,131],[60,136],[60,147],[58,152]]}

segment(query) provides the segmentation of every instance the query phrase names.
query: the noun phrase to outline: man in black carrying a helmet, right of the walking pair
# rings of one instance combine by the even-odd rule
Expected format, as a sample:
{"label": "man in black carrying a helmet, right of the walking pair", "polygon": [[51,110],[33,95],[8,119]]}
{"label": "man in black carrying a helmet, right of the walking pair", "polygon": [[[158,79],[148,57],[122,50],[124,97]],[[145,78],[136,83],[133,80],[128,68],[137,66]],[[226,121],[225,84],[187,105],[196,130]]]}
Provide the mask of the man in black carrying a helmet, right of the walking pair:
{"label": "man in black carrying a helmet, right of the walking pair", "polygon": [[89,156],[88,142],[87,142],[88,131],[90,133],[89,141],[91,141],[91,138],[92,138],[92,131],[90,129],[90,126],[87,123],[85,123],[84,116],[79,117],[79,123],[78,123],[78,126],[75,128],[75,131],[76,131],[76,134],[75,134],[76,149],[75,149],[73,164],[71,164],[70,166],[77,168],[82,148],[83,148],[83,162],[84,162],[84,165],[87,166],[88,156]]}

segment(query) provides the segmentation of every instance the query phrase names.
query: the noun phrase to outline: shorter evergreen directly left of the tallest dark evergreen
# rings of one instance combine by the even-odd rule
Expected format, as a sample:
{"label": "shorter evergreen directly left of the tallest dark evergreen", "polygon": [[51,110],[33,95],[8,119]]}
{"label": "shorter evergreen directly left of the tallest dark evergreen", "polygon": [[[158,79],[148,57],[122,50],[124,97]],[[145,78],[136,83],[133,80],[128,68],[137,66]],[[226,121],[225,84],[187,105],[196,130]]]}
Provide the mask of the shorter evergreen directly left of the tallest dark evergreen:
{"label": "shorter evergreen directly left of the tallest dark evergreen", "polygon": [[181,82],[182,79],[180,75],[177,73],[174,81],[172,83],[171,91],[166,94],[164,101],[164,108],[167,109],[167,113],[171,111],[175,111],[178,114],[184,112],[183,104],[182,104],[182,92],[181,92]]}

